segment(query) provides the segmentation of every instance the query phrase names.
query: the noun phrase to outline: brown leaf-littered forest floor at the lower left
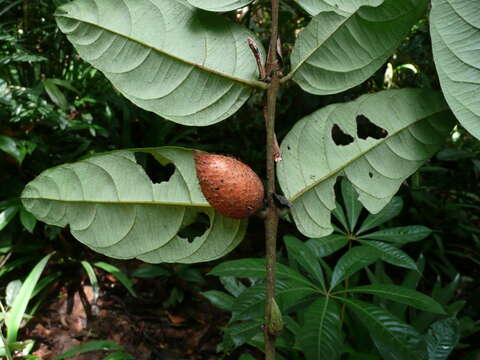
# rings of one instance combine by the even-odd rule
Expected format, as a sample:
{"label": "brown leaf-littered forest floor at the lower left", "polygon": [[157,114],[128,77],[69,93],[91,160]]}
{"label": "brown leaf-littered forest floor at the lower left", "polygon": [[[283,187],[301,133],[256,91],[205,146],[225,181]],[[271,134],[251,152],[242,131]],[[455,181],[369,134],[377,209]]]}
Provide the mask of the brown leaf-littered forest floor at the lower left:
{"label": "brown leaf-littered forest floor at the lower left", "polygon": [[[83,286],[89,304],[87,311],[79,293],[69,297],[65,288],[60,296],[44,304],[23,336],[35,341],[33,354],[51,360],[74,346],[109,340],[137,360],[238,359],[237,352],[226,357],[217,353],[222,340],[220,329],[228,322],[228,314],[201,295],[186,294],[180,304],[165,309],[155,298],[129,296],[115,278],[110,280],[111,286],[103,286],[96,304],[92,287]],[[152,283],[141,280],[145,294],[152,293],[147,291],[155,287]],[[91,315],[87,316],[87,312]],[[71,359],[101,360],[106,354],[97,351]]]}

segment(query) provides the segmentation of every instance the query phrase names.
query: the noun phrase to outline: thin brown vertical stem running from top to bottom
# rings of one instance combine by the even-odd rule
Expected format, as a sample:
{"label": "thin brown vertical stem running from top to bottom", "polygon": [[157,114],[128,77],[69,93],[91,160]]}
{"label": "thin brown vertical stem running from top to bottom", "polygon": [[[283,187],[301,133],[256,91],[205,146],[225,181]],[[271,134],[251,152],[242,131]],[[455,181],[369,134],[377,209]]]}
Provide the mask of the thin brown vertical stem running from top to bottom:
{"label": "thin brown vertical stem running from top to bottom", "polygon": [[265,248],[266,248],[266,302],[265,302],[265,359],[275,360],[275,338],[269,329],[272,328],[272,309],[275,301],[275,268],[277,252],[278,210],[273,198],[275,193],[275,158],[276,136],[275,116],[277,107],[277,95],[280,87],[280,68],[278,63],[278,0],[272,0],[272,28],[270,48],[267,57],[267,77],[271,76],[270,86],[267,90],[265,105],[265,126],[267,135],[266,168],[267,168],[267,209],[265,218]]}

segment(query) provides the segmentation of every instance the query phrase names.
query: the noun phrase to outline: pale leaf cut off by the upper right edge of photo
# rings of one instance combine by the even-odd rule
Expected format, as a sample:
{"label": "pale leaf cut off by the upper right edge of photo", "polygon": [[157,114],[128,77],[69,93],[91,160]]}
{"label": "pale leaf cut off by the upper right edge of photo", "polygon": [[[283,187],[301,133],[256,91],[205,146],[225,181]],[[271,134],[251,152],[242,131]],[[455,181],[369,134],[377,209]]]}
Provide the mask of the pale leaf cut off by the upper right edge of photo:
{"label": "pale leaf cut off by the upper right edge of photo", "polygon": [[465,129],[480,139],[480,2],[432,1],[430,32],[448,105]]}

